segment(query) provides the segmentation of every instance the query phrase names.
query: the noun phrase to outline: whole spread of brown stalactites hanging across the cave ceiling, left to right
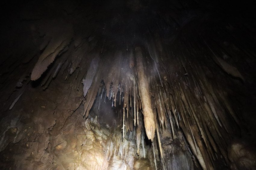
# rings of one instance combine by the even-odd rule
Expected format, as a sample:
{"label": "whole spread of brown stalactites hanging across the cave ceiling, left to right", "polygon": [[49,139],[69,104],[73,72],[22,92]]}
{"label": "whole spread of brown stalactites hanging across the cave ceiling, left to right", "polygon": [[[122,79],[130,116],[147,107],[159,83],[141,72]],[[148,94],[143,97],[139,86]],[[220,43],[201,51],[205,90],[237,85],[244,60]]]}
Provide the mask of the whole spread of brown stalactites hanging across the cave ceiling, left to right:
{"label": "whole spread of brown stalactites hanging across the cave ceiling, left to right", "polygon": [[[58,42],[56,46],[59,46]],[[225,143],[227,143],[229,134],[234,131],[231,127],[236,127],[239,120],[226,99],[227,92],[219,86],[211,85],[200,62],[188,61],[189,58],[185,57],[176,57],[191,55],[192,53],[186,51],[187,49],[183,49],[183,52],[169,52],[172,57],[167,57],[161,42],[159,40],[156,42],[150,42],[145,47],[117,50],[114,54],[105,54],[105,56],[91,53],[87,56],[87,59],[91,60],[90,64],[82,60],[83,51],[75,52],[74,61],[67,59],[69,53],[64,53],[61,58],[57,58],[57,60],[62,59],[63,61],[55,63],[42,85],[45,84],[47,88],[58,72],[62,75],[69,70],[65,79],[68,78],[68,75],[75,73],[70,86],[78,89],[81,81],[83,82],[83,106],[86,117],[97,94],[101,94],[101,100],[112,100],[112,106],[123,102],[123,137],[125,130],[136,129],[137,148],[141,143],[142,128],[145,128],[148,139],[153,140],[156,134],[159,152],[161,157],[164,157],[160,140],[161,129],[170,130],[172,138],[175,139],[176,131],[181,127],[193,154],[203,169],[213,169],[214,161],[220,157],[219,155],[228,162]],[[59,53],[61,50],[67,50],[64,48],[67,43],[63,44]],[[85,47],[87,45],[87,43],[84,44]],[[235,67],[217,57],[210,46],[206,45],[205,47],[204,49],[208,49],[205,55],[211,53],[213,60],[225,72],[244,80]],[[193,47],[190,48],[193,49]],[[45,64],[42,65],[42,68],[40,63],[37,64],[38,69],[35,66],[33,75],[38,73],[36,76],[38,78],[47,68],[45,66],[48,66],[55,57],[48,56],[48,53],[44,52],[39,60]],[[172,68],[164,64],[164,61],[168,61],[170,58],[176,68],[186,71],[184,76],[179,76],[184,74],[182,71],[170,71]],[[72,61],[72,64],[69,61]],[[184,64],[186,62],[192,63],[191,67],[186,67]],[[79,65],[80,67],[78,67]],[[39,73],[37,70],[41,72]],[[33,77],[32,79],[36,79]],[[102,80],[105,86],[102,85],[99,89]],[[101,93],[102,89],[105,94]],[[119,96],[117,96],[118,92]],[[118,97],[119,103],[117,103]],[[230,117],[234,121],[228,121]]]}

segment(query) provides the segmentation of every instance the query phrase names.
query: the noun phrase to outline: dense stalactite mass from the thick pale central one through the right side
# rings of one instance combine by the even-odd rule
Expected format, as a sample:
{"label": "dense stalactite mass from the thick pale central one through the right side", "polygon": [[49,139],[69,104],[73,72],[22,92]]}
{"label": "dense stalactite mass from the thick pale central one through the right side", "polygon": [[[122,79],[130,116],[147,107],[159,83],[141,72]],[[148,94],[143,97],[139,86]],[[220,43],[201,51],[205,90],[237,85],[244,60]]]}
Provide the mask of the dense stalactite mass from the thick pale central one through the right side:
{"label": "dense stalactite mass from the thick pale central one through the right side", "polygon": [[[216,155],[222,155],[228,161],[224,152],[226,146],[222,142],[226,140],[223,138],[226,132],[232,131],[230,127],[233,123],[227,121],[227,116],[231,116],[235,123],[239,123],[239,120],[225,98],[226,93],[224,92],[223,95],[220,88],[213,89],[197,63],[195,63],[197,70],[186,68],[186,72],[190,73],[189,80],[186,74],[175,82],[170,82],[171,77],[177,76],[175,73],[171,75],[159,73],[158,55],[163,57],[163,51],[156,50],[150,45],[147,52],[142,49],[144,48],[136,47],[126,55],[117,52],[114,57],[114,63],[117,64],[112,64],[114,69],[101,76],[106,89],[110,87],[109,93],[106,92],[105,95],[112,100],[112,106],[116,106],[117,97],[119,104],[123,102],[123,137],[126,134],[125,130],[134,130],[135,127],[139,153],[142,124],[144,124],[143,128],[148,139],[153,141],[155,134],[157,135],[156,149],[159,148],[163,158],[161,129],[170,129],[171,136],[175,139],[177,130],[182,127],[192,152],[203,169],[213,169],[214,161],[219,157]],[[145,57],[145,54],[150,58]],[[182,58],[176,60],[180,67],[184,67]],[[152,72],[149,71],[151,68],[153,68]],[[162,71],[164,69],[167,68],[163,68]],[[198,72],[201,73],[200,76]],[[97,94],[98,90],[94,91]],[[117,96],[118,92],[119,96]],[[225,105],[221,105],[219,101],[223,101]],[[91,100],[88,101],[90,102]],[[141,122],[140,113],[143,114],[144,122]],[[133,124],[130,123],[131,119]]]}

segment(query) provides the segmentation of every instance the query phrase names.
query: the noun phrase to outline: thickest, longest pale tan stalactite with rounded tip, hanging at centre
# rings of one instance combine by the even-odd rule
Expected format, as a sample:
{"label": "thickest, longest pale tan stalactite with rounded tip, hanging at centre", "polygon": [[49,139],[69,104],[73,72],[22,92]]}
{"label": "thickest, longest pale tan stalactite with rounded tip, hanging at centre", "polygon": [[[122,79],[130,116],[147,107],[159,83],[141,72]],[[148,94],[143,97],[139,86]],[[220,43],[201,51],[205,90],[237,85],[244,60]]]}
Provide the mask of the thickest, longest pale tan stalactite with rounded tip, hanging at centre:
{"label": "thickest, longest pale tan stalactite with rounded tip, hanging at centre", "polygon": [[136,67],[138,74],[138,83],[139,83],[139,96],[142,103],[143,115],[144,115],[144,124],[146,134],[148,139],[153,140],[155,136],[155,118],[151,106],[151,96],[149,93],[149,84],[148,79],[145,74],[145,66],[143,64],[143,55],[142,49],[140,47],[135,48],[136,56]]}

